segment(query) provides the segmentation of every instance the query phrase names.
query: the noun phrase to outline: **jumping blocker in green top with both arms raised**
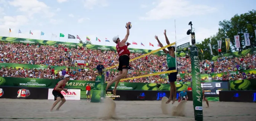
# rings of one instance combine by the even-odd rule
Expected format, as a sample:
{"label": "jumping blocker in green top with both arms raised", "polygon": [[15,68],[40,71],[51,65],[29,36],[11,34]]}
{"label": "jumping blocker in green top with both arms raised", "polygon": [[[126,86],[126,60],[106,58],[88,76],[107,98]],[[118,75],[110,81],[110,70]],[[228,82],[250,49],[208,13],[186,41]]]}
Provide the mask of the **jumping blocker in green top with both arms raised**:
{"label": "jumping blocker in green top with both arms raised", "polygon": [[[165,40],[166,43],[169,45],[170,42],[166,36],[166,30],[164,30],[164,36],[165,36]],[[163,44],[159,41],[158,37],[155,36],[157,42],[159,43],[160,47],[163,47]],[[168,71],[170,70],[176,70],[176,59],[175,59],[175,47],[167,47],[168,51],[163,49],[164,53],[167,54],[167,66],[168,66]],[[168,101],[166,102],[166,104],[170,103],[170,101],[172,100],[172,95],[173,95],[173,100],[172,100],[172,104],[176,101],[176,86],[175,86],[175,81],[177,80],[177,74],[178,72],[174,72],[174,73],[169,73],[168,74],[168,78],[169,78],[169,82],[170,82],[170,97],[168,99]]]}

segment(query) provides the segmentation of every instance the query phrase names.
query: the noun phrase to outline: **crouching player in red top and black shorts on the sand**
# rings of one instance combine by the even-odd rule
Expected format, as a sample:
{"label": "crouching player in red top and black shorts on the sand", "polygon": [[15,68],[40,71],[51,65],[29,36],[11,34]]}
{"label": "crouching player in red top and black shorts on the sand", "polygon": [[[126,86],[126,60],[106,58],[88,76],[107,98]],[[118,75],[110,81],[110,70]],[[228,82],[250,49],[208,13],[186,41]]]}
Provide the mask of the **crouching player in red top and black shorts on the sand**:
{"label": "crouching player in red top and black shorts on the sand", "polygon": [[63,105],[66,101],[66,99],[64,98],[64,96],[61,94],[61,91],[64,90],[65,93],[68,93],[68,89],[65,89],[65,84],[69,81],[70,76],[68,74],[64,75],[64,80],[59,81],[56,86],[54,87],[54,89],[52,90],[52,94],[54,95],[54,103],[51,107],[51,110],[53,110],[53,108],[60,102],[60,104],[58,105],[58,107],[56,108],[56,110],[59,110],[61,105]]}

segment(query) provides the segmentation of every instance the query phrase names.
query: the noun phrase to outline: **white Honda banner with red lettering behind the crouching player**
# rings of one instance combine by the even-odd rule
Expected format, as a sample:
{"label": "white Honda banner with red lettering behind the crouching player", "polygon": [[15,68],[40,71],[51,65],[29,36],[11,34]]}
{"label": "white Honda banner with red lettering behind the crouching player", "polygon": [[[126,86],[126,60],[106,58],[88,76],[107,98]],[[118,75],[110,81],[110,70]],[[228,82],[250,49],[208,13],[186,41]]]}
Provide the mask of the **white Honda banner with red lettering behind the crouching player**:
{"label": "white Honda banner with red lettering behind the crouching player", "polygon": [[[54,100],[52,90],[52,88],[48,89],[48,100]],[[61,94],[65,97],[66,100],[80,100],[80,91],[81,90],[79,89],[68,89],[68,93],[61,91]]]}

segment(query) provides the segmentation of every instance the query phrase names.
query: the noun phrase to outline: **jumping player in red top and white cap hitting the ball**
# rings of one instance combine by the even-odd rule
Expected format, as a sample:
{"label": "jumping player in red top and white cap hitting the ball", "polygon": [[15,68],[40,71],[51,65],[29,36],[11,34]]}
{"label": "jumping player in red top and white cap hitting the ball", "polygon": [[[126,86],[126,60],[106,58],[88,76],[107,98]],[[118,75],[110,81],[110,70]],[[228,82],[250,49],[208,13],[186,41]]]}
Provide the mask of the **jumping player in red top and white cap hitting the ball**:
{"label": "jumping player in red top and white cap hitting the ball", "polygon": [[128,40],[129,37],[129,25],[131,24],[131,22],[128,22],[126,24],[127,26],[127,34],[125,36],[125,38],[121,41],[119,39],[119,36],[115,36],[113,37],[113,42],[116,43],[116,51],[119,54],[119,66],[118,66],[118,75],[116,76],[116,78],[114,78],[113,80],[108,82],[108,85],[106,87],[106,90],[108,90],[109,86],[111,84],[113,84],[114,82],[116,82],[115,84],[115,88],[113,89],[113,94],[116,95],[116,88],[117,85],[119,83],[119,81],[122,78],[127,77],[127,73],[128,73],[128,69],[130,68],[129,66],[129,56],[130,56],[130,51],[128,50],[128,46],[130,45],[130,43],[127,43],[127,45],[125,45],[125,42]]}

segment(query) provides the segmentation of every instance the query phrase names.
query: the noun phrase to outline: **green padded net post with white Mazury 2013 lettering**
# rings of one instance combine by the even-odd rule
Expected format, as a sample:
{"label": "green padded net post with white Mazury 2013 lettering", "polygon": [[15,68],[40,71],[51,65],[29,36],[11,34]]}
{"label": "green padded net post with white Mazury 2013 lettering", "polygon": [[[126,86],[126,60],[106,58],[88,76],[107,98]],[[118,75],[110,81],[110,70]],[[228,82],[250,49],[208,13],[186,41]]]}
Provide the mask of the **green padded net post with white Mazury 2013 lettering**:
{"label": "green padded net post with white Mazury 2013 lettering", "polygon": [[191,57],[191,74],[192,74],[192,95],[193,95],[193,107],[196,121],[203,121],[203,108],[202,108],[202,89],[201,89],[201,77],[199,69],[198,48],[192,46],[190,48]]}

